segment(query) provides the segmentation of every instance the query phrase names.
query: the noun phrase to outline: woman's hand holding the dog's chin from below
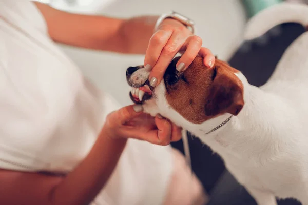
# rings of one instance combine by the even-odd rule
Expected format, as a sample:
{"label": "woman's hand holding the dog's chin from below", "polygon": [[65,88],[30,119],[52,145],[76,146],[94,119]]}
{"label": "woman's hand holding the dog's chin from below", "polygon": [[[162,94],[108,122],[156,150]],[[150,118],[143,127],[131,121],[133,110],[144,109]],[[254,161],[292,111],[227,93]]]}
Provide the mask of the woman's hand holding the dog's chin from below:
{"label": "woman's hand holding the dog's chin from below", "polygon": [[141,105],[131,105],[110,113],[102,133],[112,139],[135,138],[157,145],[181,139],[181,128],[161,115],[151,117],[142,111]]}

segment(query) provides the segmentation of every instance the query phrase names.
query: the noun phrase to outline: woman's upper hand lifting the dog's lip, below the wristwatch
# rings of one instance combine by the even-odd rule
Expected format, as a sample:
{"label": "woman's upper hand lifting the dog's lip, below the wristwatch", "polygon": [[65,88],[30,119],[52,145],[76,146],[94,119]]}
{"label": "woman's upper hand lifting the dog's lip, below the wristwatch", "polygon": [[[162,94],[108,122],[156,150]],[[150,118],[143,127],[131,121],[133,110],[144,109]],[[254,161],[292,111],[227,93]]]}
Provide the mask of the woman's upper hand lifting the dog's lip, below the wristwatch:
{"label": "woman's upper hand lifting the dog's lip, below the wristwatch", "polygon": [[202,47],[202,39],[192,35],[182,23],[175,19],[165,19],[153,34],[146,51],[144,66],[151,69],[150,85],[157,86],[175,55],[181,52],[177,70],[184,71],[199,54],[204,58],[204,65],[213,67],[215,56],[207,48]]}

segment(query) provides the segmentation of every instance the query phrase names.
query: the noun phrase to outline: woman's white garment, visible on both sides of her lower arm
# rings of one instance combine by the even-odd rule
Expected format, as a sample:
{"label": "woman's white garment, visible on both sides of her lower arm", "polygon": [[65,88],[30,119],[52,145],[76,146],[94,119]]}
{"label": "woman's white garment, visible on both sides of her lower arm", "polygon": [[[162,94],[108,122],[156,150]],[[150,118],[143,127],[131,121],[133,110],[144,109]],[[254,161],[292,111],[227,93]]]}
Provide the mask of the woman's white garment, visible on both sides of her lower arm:
{"label": "woman's white garment, visible on both sides of her lower arm", "polygon": [[[0,0],[0,168],[71,171],[118,108],[52,42],[33,3]],[[170,150],[129,140],[96,204],[161,204]]]}

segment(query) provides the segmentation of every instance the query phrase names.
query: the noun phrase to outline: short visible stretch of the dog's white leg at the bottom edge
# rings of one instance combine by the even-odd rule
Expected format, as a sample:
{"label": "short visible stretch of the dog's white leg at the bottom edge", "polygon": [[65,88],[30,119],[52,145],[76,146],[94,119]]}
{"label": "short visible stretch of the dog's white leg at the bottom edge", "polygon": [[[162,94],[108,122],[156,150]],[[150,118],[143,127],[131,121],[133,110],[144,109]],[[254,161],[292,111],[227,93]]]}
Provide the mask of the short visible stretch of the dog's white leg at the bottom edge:
{"label": "short visible stretch of the dog's white leg at the bottom edge", "polygon": [[249,194],[254,197],[258,205],[277,205],[276,197],[268,192],[262,192],[257,189],[246,188]]}

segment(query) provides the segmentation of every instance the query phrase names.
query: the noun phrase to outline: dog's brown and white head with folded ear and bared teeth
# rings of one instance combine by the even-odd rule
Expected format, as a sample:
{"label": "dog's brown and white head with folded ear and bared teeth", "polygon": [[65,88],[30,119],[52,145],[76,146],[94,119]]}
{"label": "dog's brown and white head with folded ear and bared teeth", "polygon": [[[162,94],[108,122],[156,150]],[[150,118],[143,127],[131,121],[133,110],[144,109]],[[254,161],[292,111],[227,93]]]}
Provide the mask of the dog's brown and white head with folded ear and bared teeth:
{"label": "dog's brown and white head with folded ear and bared teeth", "polygon": [[192,124],[202,124],[225,113],[237,115],[241,111],[243,84],[236,75],[238,70],[219,59],[209,69],[197,56],[184,72],[179,73],[176,70],[179,58],[172,60],[163,80],[155,88],[149,85],[149,70],[143,66],[129,67],[126,78],[132,87],[132,101],[142,104],[144,111],[151,115],[160,113],[175,122],[181,116]]}

